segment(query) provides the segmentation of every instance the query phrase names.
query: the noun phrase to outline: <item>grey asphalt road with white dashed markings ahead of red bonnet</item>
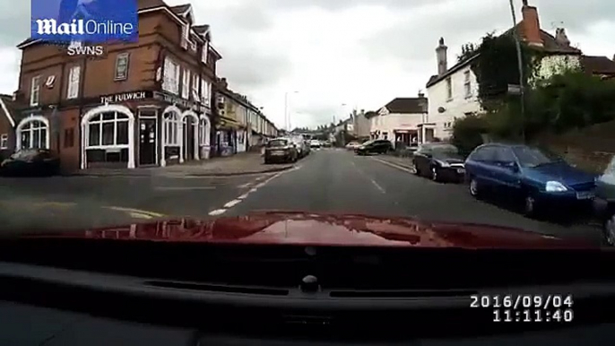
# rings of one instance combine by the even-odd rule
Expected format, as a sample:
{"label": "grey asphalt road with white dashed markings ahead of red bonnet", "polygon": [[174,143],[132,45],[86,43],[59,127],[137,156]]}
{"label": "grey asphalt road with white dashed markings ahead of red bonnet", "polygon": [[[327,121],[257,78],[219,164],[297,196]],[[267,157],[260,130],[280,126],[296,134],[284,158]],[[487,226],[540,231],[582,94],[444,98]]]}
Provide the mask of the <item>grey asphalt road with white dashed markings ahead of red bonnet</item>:
{"label": "grey asphalt road with white dashed markings ahead of red bonnet", "polygon": [[530,220],[473,199],[466,186],[434,183],[377,157],[342,150],[316,151],[293,169],[243,177],[0,178],[0,196],[0,228],[5,231],[284,210],[485,223],[601,241],[595,226]]}

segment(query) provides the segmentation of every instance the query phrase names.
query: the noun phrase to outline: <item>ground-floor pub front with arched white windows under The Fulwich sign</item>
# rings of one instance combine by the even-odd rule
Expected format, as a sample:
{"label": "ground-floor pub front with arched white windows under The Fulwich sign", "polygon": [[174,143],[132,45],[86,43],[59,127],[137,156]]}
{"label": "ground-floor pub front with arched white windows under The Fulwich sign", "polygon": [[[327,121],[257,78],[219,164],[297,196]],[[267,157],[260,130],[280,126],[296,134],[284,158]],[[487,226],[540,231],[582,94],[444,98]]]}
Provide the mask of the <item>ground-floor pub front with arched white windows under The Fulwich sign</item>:
{"label": "ground-floor pub front with arched white windows under The Fulwich sign", "polygon": [[203,154],[210,146],[211,122],[200,104],[159,91],[101,96],[100,103],[81,117],[81,169],[209,158]]}

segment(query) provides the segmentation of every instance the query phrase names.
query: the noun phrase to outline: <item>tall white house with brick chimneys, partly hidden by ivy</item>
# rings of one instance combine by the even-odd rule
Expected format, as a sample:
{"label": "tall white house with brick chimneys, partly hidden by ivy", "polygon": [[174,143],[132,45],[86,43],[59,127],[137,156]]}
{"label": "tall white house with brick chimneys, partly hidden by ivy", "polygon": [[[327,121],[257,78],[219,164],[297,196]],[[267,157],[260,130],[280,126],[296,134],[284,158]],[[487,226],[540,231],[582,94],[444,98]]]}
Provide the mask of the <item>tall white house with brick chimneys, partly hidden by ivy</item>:
{"label": "tall white house with brick chimneys, partly hidden by ivy", "polygon": [[[527,0],[524,0],[522,13],[523,20],[516,25],[516,29],[524,44],[547,54],[541,61],[539,78],[558,74],[568,67],[580,66],[582,53],[570,46],[565,30],[556,30],[555,36],[541,30],[538,10],[528,5]],[[504,34],[513,32],[514,29],[510,29]],[[440,39],[436,48],[437,74],[432,75],[427,83],[429,121],[435,123],[436,137],[443,140],[450,138],[455,119],[481,112],[476,75],[471,69],[472,62],[478,56],[448,68],[447,50],[444,39]]]}

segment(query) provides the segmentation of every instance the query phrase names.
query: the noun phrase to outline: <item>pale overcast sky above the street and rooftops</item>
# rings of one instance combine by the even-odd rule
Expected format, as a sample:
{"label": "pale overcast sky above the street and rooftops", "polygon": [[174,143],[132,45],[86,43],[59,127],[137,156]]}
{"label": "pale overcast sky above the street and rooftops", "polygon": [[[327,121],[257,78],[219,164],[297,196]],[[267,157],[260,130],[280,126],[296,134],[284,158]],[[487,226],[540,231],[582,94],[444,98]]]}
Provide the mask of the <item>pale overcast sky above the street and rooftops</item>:
{"label": "pale overcast sky above the street and rooftops", "polygon": [[[514,0],[517,20],[521,0]],[[167,0],[168,4],[187,1]],[[200,0],[198,24],[212,27],[218,76],[247,95],[280,128],[316,127],[416,97],[437,71],[444,37],[449,66],[461,46],[512,26],[508,0]],[[585,55],[615,56],[615,1],[529,0],[541,28],[567,30]],[[0,93],[17,89],[29,36],[30,1],[0,1]],[[10,28],[7,30],[7,28]],[[288,98],[286,97],[288,95]]]}

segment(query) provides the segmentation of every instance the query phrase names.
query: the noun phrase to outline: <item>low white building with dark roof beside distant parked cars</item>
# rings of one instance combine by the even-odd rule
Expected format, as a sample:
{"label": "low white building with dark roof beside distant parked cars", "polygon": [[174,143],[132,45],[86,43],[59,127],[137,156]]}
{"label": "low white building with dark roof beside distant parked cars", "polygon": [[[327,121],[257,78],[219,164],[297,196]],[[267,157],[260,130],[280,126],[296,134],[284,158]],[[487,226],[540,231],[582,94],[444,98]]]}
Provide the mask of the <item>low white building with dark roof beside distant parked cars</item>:
{"label": "low white building with dark roof beside distant parked cars", "polygon": [[397,98],[380,108],[370,117],[371,139],[386,139],[392,143],[422,142],[421,138],[433,138],[433,130],[422,130],[428,120],[428,100],[425,95],[418,98]]}

